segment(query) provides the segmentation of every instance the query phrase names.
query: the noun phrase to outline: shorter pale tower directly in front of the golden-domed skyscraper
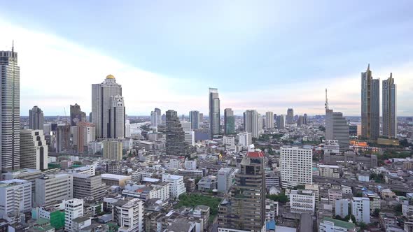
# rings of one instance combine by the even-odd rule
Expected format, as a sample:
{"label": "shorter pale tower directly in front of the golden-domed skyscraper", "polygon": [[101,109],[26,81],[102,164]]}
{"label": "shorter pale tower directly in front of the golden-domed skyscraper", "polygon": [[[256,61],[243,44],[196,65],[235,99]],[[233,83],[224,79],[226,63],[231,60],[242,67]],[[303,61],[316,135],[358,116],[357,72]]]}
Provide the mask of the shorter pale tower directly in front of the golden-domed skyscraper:
{"label": "shorter pale tower directly in front of the golden-domed skyscraper", "polygon": [[125,138],[125,102],[123,96],[111,96],[108,138]]}

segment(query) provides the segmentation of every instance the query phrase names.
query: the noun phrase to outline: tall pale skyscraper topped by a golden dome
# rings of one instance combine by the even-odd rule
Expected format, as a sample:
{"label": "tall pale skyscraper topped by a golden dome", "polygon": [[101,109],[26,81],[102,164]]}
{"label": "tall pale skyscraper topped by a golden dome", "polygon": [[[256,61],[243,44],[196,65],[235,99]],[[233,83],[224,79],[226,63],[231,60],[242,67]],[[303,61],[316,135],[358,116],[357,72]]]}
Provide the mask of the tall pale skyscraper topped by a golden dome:
{"label": "tall pale skyscraper topped by a golden dome", "polygon": [[122,86],[116,83],[113,75],[106,76],[101,84],[92,85],[92,122],[96,126],[97,138],[110,138],[109,110],[112,107],[111,96],[122,96]]}

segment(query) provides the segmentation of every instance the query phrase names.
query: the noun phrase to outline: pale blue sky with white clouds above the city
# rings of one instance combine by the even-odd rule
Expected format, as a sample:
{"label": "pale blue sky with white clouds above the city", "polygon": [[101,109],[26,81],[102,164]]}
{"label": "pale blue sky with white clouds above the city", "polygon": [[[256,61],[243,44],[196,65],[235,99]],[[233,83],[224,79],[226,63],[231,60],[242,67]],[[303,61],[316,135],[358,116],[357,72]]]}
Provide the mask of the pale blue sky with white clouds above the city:
{"label": "pale blue sky with white clouds above the city", "polygon": [[[0,50],[19,56],[20,112],[91,110],[112,74],[128,115],[157,107],[208,114],[360,115],[360,73],[393,73],[398,115],[413,115],[413,1],[7,1]],[[381,85],[381,83],[380,83]]]}

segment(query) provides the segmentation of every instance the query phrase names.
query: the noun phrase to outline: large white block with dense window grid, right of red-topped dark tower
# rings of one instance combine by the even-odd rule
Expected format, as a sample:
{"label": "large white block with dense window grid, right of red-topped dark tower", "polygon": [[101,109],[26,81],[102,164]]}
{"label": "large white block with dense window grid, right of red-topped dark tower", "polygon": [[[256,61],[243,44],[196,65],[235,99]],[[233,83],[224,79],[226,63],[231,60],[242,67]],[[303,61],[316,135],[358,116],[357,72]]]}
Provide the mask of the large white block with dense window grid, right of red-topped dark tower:
{"label": "large white block with dense window grid, right of red-topped dark tower", "polygon": [[313,170],[311,148],[281,147],[281,186],[295,187],[297,184],[312,184]]}

